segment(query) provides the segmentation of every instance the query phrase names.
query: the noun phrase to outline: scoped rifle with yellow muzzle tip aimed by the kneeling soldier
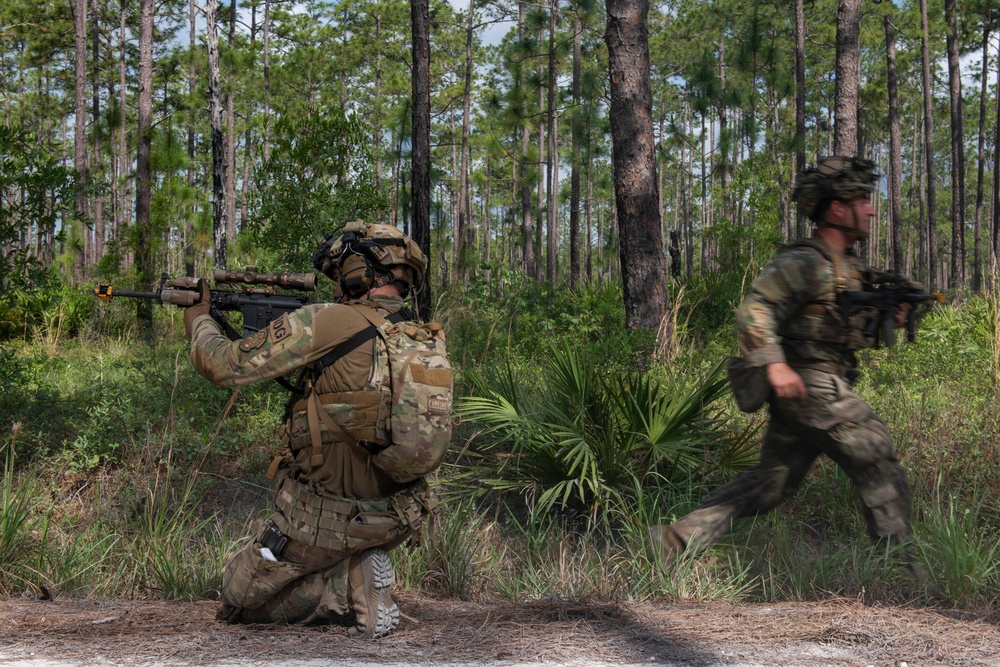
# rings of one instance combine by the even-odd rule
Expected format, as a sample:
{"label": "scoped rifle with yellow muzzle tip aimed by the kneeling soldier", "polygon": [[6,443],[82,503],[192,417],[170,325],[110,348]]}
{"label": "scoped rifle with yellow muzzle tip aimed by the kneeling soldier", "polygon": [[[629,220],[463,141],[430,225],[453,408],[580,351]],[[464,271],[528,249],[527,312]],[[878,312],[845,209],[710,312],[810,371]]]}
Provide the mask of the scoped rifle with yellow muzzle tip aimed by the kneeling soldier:
{"label": "scoped rifle with yellow muzzle tip aimed by the kneeling soldier", "polygon": [[[287,268],[283,273],[258,273],[256,267],[245,271],[225,271],[216,269],[212,276],[216,286],[226,289],[209,290],[209,314],[222,325],[230,340],[246,338],[255,331],[265,328],[272,320],[285,313],[298,310],[310,303],[305,294],[282,294],[275,287],[312,292],[316,290],[315,273],[291,273]],[[98,285],[94,294],[101,301],[111,301],[116,297],[130,299],[150,299],[175,306],[193,306],[198,299],[198,279],[171,278],[164,273],[160,286],[152,292],[120,290],[114,285]],[[243,335],[229,324],[229,311],[243,313]]]}

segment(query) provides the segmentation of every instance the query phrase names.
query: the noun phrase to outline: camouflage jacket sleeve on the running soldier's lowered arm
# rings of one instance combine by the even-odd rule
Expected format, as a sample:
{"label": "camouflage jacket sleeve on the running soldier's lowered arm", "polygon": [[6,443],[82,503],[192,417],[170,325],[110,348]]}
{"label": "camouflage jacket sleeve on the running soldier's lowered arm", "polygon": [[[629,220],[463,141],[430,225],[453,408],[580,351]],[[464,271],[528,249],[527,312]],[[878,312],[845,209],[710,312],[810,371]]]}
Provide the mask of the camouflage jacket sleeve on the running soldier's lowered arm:
{"label": "camouflage jacket sleeve on the running soldier's lowered arm", "polygon": [[833,265],[802,247],[780,253],[754,281],[736,311],[740,349],[752,366],[786,361],[778,339],[781,324],[836,281]]}

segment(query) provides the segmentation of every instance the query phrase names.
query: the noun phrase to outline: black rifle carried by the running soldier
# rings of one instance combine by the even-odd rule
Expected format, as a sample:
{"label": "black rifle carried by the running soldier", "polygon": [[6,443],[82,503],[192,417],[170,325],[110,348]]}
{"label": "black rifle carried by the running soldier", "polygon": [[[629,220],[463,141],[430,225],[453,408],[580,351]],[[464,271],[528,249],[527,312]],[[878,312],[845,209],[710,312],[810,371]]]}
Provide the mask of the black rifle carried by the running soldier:
{"label": "black rifle carried by the running soldier", "polygon": [[912,343],[917,336],[917,320],[924,316],[931,305],[943,303],[944,294],[924,292],[906,283],[882,283],[873,285],[863,292],[840,292],[837,304],[846,325],[851,316],[866,308],[874,308],[878,315],[869,322],[864,334],[875,338],[875,347],[879,341],[886,347],[896,344],[896,308],[904,303],[912,305],[906,317],[906,340]]}

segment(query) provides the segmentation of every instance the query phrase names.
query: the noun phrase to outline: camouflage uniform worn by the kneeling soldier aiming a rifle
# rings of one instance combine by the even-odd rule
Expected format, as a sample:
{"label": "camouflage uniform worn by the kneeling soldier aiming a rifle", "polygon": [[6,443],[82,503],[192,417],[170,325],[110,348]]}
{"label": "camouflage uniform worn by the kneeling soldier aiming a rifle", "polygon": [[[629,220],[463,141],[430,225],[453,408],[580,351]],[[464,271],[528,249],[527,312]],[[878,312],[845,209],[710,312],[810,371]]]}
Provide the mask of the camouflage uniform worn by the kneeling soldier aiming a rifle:
{"label": "camouflage uniform worn by the kneeling soldier aiming a rifle", "polygon": [[[374,307],[382,317],[403,307],[401,298],[388,296],[357,303]],[[192,327],[191,361],[213,383],[238,387],[308,369],[367,327],[369,320],[350,305],[316,304],[230,341],[211,317],[201,315]],[[281,560],[273,562],[261,557],[255,539],[229,562],[220,619],[296,623],[350,618],[356,611],[351,589],[357,586],[351,573],[357,559],[350,556],[399,544],[419,530],[433,508],[423,479],[394,481],[371,465],[370,453],[358,444],[379,440],[379,432],[384,440],[386,431],[381,388],[372,384],[377,375],[374,349],[372,341],[361,344],[315,380],[313,389],[326,413],[322,425],[317,424],[319,456],[310,446],[306,401],[293,403],[282,429],[281,455],[269,471],[277,480],[271,521],[289,537],[288,544]],[[335,423],[328,425],[331,420]],[[345,437],[358,442],[349,445]]]}

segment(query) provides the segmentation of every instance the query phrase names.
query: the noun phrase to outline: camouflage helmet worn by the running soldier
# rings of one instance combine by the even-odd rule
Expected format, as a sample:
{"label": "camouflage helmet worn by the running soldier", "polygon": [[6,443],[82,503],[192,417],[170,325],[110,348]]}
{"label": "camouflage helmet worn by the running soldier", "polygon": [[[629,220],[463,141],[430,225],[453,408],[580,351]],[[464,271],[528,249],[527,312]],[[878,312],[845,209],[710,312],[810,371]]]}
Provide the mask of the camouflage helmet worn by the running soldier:
{"label": "camouflage helmet worn by the running soldier", "polygon": [[822,157],[806,168],[795,182],[792,199],[799,213],[820,222],[831,201],[851,201],[870,194],[882,174],[871,160],[856,157]]}

